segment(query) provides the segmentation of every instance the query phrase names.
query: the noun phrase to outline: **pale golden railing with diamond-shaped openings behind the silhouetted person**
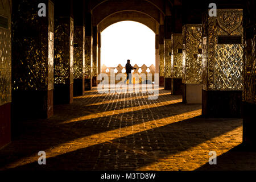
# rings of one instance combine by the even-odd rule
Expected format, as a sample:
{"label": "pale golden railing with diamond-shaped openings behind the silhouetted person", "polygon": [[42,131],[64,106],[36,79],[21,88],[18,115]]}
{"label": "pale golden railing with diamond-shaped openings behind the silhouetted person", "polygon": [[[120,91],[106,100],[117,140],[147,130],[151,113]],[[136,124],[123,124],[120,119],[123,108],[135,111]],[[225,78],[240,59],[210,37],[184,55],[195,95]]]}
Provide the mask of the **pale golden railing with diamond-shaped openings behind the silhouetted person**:
{"label": "pale golden railing with diamond-shaped openings behind the silhouetted person", "polygon": [[[138,83],[151,84],[152,82],[154,82],[155,66],[153,64],[150,67],[147,67],[145,64],[143,64],[141,67],[138,67],[138,65],[135,64],[133,67],[137,68],[131,71],[133,84],[138,84]],[[101,66],[101,73],[105,73],[106,75],[108,75],[109,82],[110,82],[110,75],[117,76],[118,74],[121,73],[121,77],[126,78],[125,67],[123,67],[121,64],[118,64],[117,67],[106,67],[106,65],[103,64]],[[117,84],[121,80],[115,79],[115,84]]]}

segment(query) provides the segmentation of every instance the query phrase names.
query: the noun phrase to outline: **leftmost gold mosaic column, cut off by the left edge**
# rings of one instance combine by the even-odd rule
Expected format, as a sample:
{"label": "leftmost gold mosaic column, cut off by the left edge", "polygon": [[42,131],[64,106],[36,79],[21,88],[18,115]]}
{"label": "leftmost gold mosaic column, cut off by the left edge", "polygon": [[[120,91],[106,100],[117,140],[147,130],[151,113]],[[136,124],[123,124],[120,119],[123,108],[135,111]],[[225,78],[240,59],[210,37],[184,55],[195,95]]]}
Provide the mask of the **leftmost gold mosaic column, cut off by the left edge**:
{"label": "leftmost gold mosaic column, cut off by the left edge", "polygon": [[0,6],[0,148],[11,142],[11,1]]}

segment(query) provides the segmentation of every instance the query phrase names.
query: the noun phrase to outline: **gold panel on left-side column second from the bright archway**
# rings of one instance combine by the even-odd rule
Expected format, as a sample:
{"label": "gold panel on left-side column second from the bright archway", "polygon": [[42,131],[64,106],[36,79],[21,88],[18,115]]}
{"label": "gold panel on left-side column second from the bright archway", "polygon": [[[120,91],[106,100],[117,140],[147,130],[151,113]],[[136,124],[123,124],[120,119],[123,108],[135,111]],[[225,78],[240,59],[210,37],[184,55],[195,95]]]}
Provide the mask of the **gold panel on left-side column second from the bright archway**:
{"label": "gold panel on left-side column second from the bright archway", "polygon": [[90,59],[90,51],[92,46],[92,37],[85,36],[85,78],[90,79],[91,77],[91,59]]}

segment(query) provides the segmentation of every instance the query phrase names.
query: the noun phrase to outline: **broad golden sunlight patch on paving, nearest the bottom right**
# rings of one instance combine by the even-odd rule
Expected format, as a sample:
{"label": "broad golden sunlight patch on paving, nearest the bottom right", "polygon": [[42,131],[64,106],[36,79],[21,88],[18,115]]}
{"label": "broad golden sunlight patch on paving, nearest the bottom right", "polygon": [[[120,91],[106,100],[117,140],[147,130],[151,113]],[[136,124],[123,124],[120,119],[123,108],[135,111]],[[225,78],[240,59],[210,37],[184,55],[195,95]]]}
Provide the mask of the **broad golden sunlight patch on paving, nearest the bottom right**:
{"label": "broad golden sunlight patch on paving, nearest the bottom right", "polygon": [[[204,164],[209,162],[209,151],[216,151],[217,158],[218,156],[228,152],[230,149],[238,146],[238,144],[242,143],[242,135],[236,138],[236,142],[232,140],[232,144],[228,147],[219,147],[221,146],[221,142],[223,140],[229,140],[230,135],[234,133],[234,131],[242,131],[242,126],[237,127],[234,130],[230,130],[218,137],[214,137],[209,139],[203,143],[198,144],[197,146],[189,148],[189,150],[184,150],[181,152],[176,152],[175,154],[166,156],[166,158],[157,159],[157,162],[151,163],[150,165],[143,166],[139,168],[139,171],[147,171],[147,170],[161,170],[161,171],[193,171]],[[184,158],[187,156],[187,158]],[[153,158],[154,156],[151,156]],[[180,160],[183,159],[183,160]],[[188,160],[189,159],[189,160]],[[218,160],[218,159],[217,159]],[[166,162],[168,161],[168,165]],[[170,165],[173,164],[173,165]],[[218,164],[218,162],[217,162]],[[160,169],[158,168],[160,166]]]}

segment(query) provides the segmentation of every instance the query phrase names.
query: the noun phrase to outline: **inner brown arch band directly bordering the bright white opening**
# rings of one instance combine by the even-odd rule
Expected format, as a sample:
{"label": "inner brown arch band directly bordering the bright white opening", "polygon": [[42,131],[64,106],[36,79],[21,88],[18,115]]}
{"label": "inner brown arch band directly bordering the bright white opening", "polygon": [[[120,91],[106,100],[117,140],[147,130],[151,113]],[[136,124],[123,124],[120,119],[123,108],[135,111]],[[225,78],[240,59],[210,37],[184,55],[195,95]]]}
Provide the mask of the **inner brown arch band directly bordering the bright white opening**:
{"label": "inner brown arch band directly bordering the bright white opening", "polygon": [[142,23],[148,28],[150,28],[155,34],[158,33],[159,23],[156,22],[155,19],[151,18],[150,16],[137,12],[137,11],[121,11],[106,17],[104,20],[98,24],[98,28],[100,32],[104,31],[105,28],[109,27],[110,25],[122,21],[134,21],[138,23]]}

